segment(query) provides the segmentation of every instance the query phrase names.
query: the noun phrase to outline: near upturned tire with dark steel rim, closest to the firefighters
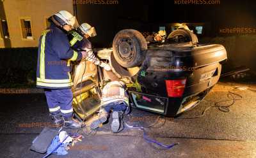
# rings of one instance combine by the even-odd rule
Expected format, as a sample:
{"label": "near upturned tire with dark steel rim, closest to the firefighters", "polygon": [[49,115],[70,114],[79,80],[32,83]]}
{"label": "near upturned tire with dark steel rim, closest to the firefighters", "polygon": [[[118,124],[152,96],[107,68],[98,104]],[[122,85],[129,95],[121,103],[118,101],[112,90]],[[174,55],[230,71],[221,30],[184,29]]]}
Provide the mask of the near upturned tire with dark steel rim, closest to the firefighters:
{"label": "near upturned tire with dark steel rim, closest to the firefighters", "polygon": [[119,31],[113,40],[114,57],[124,68],[140,66],[145,59],[145,50],[147,50],[146,39],[134,29]]}

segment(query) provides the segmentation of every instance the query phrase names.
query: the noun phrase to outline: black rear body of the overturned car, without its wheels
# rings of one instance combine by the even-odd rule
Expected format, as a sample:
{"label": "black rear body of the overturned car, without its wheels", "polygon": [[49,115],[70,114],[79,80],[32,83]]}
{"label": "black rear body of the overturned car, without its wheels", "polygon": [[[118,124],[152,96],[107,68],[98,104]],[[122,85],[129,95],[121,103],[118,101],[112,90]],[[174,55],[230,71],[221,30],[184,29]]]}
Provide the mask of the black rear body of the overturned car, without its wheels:
{"label": "black rear body of the overturned car, without its wheels", "polygon": [[[138,83],[143,89],[137,95],[142,101],[138,103],[136,92],[131,92],[134,106],[168,117],[187,111],[218,82],[221,62],[226,60],[222,45],[180,43],[150,47],[138,73]],[[175,81],[179,85],[172,88]],[[177,90],[180,94],[175,94]]]}

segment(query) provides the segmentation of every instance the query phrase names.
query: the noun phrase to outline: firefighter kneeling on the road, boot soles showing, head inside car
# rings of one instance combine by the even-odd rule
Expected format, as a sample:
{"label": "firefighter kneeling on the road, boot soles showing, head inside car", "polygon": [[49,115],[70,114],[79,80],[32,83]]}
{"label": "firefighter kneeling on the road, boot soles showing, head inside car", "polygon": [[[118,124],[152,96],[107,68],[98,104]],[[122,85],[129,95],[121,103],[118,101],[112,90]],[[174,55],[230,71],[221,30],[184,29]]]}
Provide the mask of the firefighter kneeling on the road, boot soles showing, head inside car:
{"label": "firefighter kneeling on the road, boot soles showing, head inside car", "polygon": [[94,120],[90,125],[91,129],[96,129],[100,124],[108,120],[109,112],[112,113],[111,131],[118,133],[120,129],[120,121],[122,115],[129,113],[129,96],[125,91],[125,84],[120,81],[107,83],[102,89],[102,97],[100,99],[100,111],[98,119]]}

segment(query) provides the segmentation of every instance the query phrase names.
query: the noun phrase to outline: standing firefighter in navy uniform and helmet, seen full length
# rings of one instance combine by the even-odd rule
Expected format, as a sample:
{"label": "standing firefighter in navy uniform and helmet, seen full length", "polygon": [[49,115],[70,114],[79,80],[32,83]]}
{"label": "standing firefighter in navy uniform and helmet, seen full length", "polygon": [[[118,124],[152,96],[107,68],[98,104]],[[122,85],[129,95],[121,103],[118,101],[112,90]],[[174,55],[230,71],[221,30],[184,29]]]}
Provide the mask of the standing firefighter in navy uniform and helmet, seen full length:
{"label": "standing firefighter in navy uniform and helmet, seen full length", "polygon": [[72,80],[68,61],[79,61],[86,52],[70,48],[67,31],[74,27],[76,17],[62,10],[50,17],[50,27],[42,32],[38,46],[36,87],[45,90],[50,116],[55,126],[77,128],[80,122],[72,118]]}

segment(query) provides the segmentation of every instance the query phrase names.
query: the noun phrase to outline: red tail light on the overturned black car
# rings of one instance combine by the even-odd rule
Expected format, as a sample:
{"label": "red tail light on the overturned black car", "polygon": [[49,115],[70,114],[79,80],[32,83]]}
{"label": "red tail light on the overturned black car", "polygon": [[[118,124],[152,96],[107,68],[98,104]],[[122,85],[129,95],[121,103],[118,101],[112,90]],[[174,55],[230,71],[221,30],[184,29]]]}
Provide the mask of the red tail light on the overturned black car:
{"label": "red tail light on the overturned black car", "polygon": [[165,80],[165,85],[169,97],[181,97],[185,89],[186,79]]}

